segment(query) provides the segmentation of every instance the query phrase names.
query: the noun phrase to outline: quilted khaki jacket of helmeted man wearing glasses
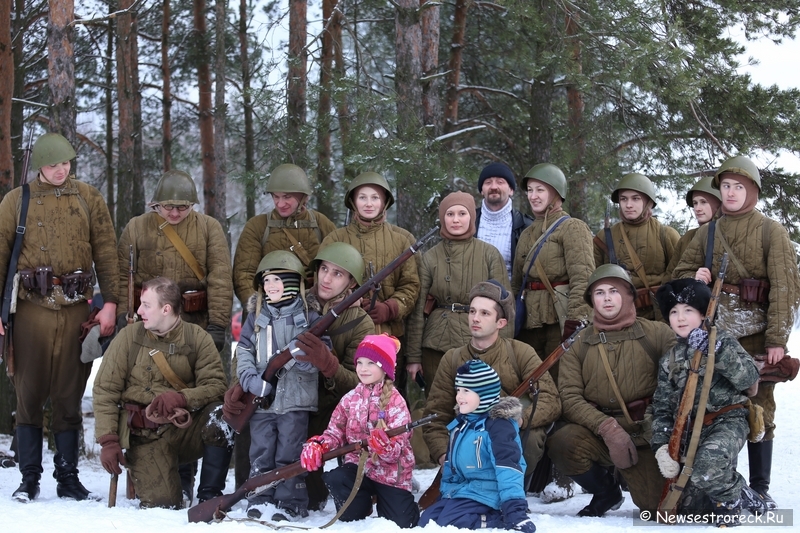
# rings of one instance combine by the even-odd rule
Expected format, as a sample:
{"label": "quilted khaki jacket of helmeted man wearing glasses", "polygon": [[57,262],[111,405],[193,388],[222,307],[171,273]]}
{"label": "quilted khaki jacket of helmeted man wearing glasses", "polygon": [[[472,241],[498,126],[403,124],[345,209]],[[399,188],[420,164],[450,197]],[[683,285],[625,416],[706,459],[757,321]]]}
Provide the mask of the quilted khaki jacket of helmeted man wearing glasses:
{"label": "quilted khaki jacket of helmeted man wearing glasses", "polygon": [[209,324],[227,328],[231,322],[233,283],[231,254],[222,226],[215,218],[196,211],[191,211],[179,224],[172,226],[205,272],[205,278],[199,280],[159,229],[158,218],[155,212],[139,215],[131,219],[122,232],[117,246],[120,286],[117,314],[128,312],[128,267],[130,245],[133,245],[136,271],[133,279],[137,288],[141,288],[145,281],[164,276],[176,282],[181,292],[205,290],[208,310],[184,312],[181,317],[201,328]]}

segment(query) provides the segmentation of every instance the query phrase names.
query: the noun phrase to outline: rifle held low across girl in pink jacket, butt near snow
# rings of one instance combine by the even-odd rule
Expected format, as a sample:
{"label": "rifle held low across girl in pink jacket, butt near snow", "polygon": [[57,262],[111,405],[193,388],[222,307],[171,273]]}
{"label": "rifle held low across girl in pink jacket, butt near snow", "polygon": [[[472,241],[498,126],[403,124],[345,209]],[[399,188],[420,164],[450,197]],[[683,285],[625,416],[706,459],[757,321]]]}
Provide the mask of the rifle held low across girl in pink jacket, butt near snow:
{"label": "rifle held low across girl in pink jacket, butt near snow", "polygon": [[[386,435],[388,437],[401,435],[416,427],[431,422],[437,416],[436,414],[428,415],[424,418],[420,418],[416,422],[409,422],[408,424],[386,430]],[[322,456],[322,460],[323,462],[330,461],[331,459],[347,455],[351,452],[365,450],[367,447],[367,439],[351,442],[350,444],[327,452]],[[189,522],[210,522],[214,519],[223,518],[225,512],[230,510],[231,507],[243,500],[250,493],[259,494],[260,492],[275,487],[283,480],[302,474],[305,471],[306,469],[303,468],[300,461],[297,461],[296,463],[253,476],[242,483],[242,486],[236,489],[234,493],[211,498],[189,509]]]}

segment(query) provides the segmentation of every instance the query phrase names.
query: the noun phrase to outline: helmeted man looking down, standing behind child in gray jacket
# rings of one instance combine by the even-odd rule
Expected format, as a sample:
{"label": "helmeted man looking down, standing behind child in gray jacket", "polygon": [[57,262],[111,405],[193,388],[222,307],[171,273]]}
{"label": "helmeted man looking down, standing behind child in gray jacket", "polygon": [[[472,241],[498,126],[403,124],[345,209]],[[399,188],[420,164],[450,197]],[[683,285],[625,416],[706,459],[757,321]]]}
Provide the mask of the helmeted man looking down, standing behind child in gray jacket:
{"label": "helmeted man looking down, standing behind child in gray jacket", "polygon": [[233,288],[243,306],[255,294],[253,277],[262,257],[273,250],[288,250],[308,267],[322,239],[336,229],[328,217],[307,207],[311,182],[297,165],[273,169],[267,192],[275,208],[247,221],[233,255]]}

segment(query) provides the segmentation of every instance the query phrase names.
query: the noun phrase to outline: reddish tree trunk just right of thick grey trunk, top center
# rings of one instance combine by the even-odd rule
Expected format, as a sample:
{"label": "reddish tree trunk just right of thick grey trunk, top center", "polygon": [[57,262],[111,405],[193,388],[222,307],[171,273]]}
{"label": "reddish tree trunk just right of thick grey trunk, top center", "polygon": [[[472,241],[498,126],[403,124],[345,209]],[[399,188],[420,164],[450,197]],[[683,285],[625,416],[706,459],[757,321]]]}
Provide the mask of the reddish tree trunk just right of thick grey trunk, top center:
{"label": "reddish tree trunk just right of thick grey trunk, top center", "polygon": [[[419,0],[420,23],[422,25],[422,75],[427,78],[422,84],[422,120],[429,136],[438,137],[442,132],[442,104],[439,90],[439,3]],[[433,77],[431,77],[433,76]]]}

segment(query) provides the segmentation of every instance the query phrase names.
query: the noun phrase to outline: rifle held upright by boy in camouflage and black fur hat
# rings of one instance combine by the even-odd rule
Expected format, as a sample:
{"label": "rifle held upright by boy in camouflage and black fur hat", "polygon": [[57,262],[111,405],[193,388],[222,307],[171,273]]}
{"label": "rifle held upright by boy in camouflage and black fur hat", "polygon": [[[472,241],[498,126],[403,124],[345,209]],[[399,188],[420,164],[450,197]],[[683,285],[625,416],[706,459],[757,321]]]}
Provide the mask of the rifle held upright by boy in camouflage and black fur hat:
{"label": "rifle held upright by boy in camouflage and black fur hat", "polygon": [[[708,302],[706,309],[706,316],[703,320],[701,327],[705,331],[710,331],[711,326],[714,325],[714,316],[717,312],[717,304],[719,303],[719,293],[722,290],[722,283],[725,280],[725,272],[728,270],[728,253],[722,254],[722,261],[720,262],[719,274],[714,281],[714,287],[711,290],[711,300]],[[678,412],[675,415],[675,425],[672,427],[672,434],[669,437],[669,445],[667,451],[669,456],[676,462],[682,463],[681,456],[683,455],[683,448],[690,433],[690,417],[692,408],[694,407],[694,398],[697,393],[697,382],[700,376],[700,362],[703,358],[703,352],[695,350],[692,356],[691,367],[689,376],[686,378],[686,385],[683,388],[683,395],[681,402],[678,405]],[[678,474],[680,477],[680,474]],[[680,496],[683,493],[682,486],[678,486],[678,477],[668,479],[664,483],[664,489],[661,491],[661,500],[659,500],[658,510],[666,511],[669,514],[674,514],[677,511],[678,504],[680,503]]]}

